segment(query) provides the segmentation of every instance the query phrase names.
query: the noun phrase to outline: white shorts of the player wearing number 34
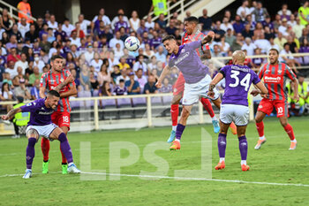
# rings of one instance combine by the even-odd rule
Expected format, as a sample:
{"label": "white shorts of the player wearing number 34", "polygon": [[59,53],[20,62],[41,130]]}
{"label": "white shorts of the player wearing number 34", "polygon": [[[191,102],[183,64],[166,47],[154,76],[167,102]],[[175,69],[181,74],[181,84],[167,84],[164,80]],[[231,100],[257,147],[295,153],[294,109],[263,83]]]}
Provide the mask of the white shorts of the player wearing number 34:
{"label": "white shorts of the player wearing number 34", "polygon": [[234,122],[236,126],[246,126],[249,123],[249,107],[237,104],[221,104],[220,120],[227,125]]}

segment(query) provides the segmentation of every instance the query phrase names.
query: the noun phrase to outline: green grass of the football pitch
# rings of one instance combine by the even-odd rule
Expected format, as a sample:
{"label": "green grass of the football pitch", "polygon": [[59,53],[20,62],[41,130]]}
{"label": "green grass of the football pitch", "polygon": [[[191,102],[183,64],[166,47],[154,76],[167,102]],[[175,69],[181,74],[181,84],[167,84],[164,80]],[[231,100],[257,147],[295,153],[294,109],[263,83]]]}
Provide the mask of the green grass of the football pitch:
{"label": "green grass of the football pitch", "polygon": [[[226,169],[215,171],[218,162],[217,135],[207,126],[187,126],[182,149],[168,150],[169,144],[156,150],[165,159],[173,177],[175,170],[200,169],[200,133],[206,128],[212,135],[213,179],[239,179],[250,182],[274,182],[309,185],[309,118],[290,118],[298,140],[298,149],[289,151],[290,139],[277,118],[265,120],[268,142],[254,150],[257,132],[254,124],[247,129],[249,144],[249,172],[241,172],[237,137],[229,134],[226,151]],[[79,166],[79,142],[90,141],[93,170],[109,172],[109,142],[129,141],[139,147],[136,164],[121,168],[122,174],[155,172],[156,167],[142,156],[147,144],[166,141],[170,127],[69,134],[75,163]],[[308,205],[309,187],[245,184],[236,182],[153,179],[121,177],[120,180],[80,180],[79,175],[62,175],[59,143],[51,142],[49,174],[41,174],[40,143],[35,148],[32,179],[5,174],[23,174],[25,171],[26,139],[0,139],[0,205]],[[204,142],[205,144],[205,142]],[[125,144],[124,144],[125,146]],[[129,155],[121,151],[122,158]],[[95,176],[102,177],[102,176]]]}

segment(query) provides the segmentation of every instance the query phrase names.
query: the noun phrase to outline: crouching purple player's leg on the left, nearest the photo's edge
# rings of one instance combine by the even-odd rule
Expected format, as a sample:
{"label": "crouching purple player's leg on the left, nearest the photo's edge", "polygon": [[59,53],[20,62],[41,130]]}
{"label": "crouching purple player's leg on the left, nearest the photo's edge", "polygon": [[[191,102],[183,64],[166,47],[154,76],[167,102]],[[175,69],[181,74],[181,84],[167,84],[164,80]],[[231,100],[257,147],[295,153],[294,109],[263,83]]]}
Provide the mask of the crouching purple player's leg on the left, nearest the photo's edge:
{"label": "crouching purple player's leg on the left, nearest the photo's edge", "polygon": [[26,129],[26,137],[28,138],[28,145],[26,146],[26,173],[23,179],[29,179],[32,176],[32,164],[34,161],[34,145],[39,139],[39,133],[31,126]]}

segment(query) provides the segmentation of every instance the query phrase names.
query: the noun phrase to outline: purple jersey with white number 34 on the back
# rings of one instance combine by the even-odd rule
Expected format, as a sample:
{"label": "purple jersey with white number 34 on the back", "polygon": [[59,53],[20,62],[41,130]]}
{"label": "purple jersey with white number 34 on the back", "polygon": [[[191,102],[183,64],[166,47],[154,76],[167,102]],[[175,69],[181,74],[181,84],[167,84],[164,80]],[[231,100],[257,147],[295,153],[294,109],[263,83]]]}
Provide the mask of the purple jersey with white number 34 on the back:
{"label": "purple jersey with white number 34 on the back", "polygon": [[258,74],[246,65],[226,65],[220,72],[225,78],[225,90],[222,104],[248,106],[248,91],[251,84],[260,82]]}

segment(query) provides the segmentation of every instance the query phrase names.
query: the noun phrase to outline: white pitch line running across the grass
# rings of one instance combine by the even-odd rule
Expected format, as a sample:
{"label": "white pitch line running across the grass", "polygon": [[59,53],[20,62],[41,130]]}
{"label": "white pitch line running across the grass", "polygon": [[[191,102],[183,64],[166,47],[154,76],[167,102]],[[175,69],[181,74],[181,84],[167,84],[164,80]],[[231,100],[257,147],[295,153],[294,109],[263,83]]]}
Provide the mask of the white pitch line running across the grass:
{"label": "white pitch line running across the grass", "polygon": [[[50,172],[60,173],[60,172]],[[41,173],[34,173],[41,174]],[[81,174],[93,174],[93,175],[108,175],[117,177],[134,177],[134,178],[149,178],[149,179],[176,179],[176,180],[194,180],[194,181],[216,181],[216,182],[230,182],[241,184],[253,184],[253,185],[270,185],[270,186],[294,186],[294,187],[309,187],[305,184],[294,183],[278,183],[278,182],[258,182],[258,181],[245,181],[238,179],[207,179],[207,178],[185,178],[185,177],[170,177],[170,176],[155,176],[155,175],[139,175],[139,174],[118,174],[118,173],[104,173],[104,172],[81,172]],[[23,174],[5,174],[0,178],[23,176]]]}

